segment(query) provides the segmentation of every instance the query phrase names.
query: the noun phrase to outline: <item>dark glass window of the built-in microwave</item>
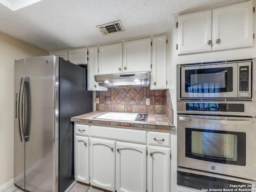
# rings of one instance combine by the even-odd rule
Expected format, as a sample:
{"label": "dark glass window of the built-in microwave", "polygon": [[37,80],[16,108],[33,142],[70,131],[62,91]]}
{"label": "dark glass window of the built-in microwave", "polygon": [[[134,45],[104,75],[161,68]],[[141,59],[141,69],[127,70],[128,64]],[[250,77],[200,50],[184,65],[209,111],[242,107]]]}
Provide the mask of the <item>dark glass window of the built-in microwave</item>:
{"label": "dark glass window of the built-in microwave", "polygon": [[232,67],[185,70],[185,92],[220,93],[232,91]]}

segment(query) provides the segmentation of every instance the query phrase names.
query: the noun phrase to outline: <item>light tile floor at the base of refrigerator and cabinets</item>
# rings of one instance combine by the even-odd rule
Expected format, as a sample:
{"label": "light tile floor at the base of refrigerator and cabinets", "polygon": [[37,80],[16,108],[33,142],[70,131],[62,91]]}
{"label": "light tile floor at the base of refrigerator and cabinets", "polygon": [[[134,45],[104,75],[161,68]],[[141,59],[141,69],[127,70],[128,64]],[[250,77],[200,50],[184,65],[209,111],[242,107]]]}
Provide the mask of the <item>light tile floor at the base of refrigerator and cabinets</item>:
{"label": "light tile floor at the base of refrigerator and cabinets", "polygon": [[[4,189],[2,192],[26,192],[26,191],[24,191],[24,190],[18,188],[17,186],[15,186],[14,184],[12,184],[8,188]],[[39,191],[36,191],[36,192],[39,192]],[[40,190],[40,192],[43,192],[43,190],[42,191]],[[69,192],[110,192],[110,191],[77,182],[70,189]]]}

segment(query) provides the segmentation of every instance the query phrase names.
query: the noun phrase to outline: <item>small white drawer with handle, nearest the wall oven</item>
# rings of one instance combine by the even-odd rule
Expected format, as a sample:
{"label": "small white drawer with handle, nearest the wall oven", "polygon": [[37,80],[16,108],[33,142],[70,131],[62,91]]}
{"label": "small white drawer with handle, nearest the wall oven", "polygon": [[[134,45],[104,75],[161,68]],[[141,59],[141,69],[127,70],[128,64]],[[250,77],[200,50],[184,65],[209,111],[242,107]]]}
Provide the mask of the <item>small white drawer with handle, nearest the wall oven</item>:
{"label": "small white drawer with handle, nearest the wall oven", "polygon": [[170,147],[170,133],[148,132],[148,144]]}

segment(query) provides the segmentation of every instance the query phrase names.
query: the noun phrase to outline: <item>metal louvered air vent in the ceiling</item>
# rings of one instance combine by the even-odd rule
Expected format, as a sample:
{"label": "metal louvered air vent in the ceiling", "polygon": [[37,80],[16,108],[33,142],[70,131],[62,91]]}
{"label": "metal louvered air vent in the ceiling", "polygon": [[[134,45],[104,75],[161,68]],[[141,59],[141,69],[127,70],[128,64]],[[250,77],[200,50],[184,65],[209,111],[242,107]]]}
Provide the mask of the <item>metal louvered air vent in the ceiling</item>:
{"label": "metal louvered air vent in the ceiling", "polygon": [[103,25],[96,26],[98,30],[102,33],[102,35],[109,35],[119,32],[124,32],[124,26],[121,22],[121,20],[106,23]]}

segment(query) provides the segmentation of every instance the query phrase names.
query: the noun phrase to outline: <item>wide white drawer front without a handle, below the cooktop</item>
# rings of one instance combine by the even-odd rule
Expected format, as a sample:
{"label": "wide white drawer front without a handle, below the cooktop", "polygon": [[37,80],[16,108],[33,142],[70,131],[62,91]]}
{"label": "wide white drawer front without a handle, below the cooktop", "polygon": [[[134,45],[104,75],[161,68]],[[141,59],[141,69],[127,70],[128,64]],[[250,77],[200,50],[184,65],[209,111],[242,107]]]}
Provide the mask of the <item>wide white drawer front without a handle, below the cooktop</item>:
{"label": "wide white drawer front without a handle, below the cooktop", "polygon": [[93,125],[90,127],[91,136],[146,144],[146,131]]}

